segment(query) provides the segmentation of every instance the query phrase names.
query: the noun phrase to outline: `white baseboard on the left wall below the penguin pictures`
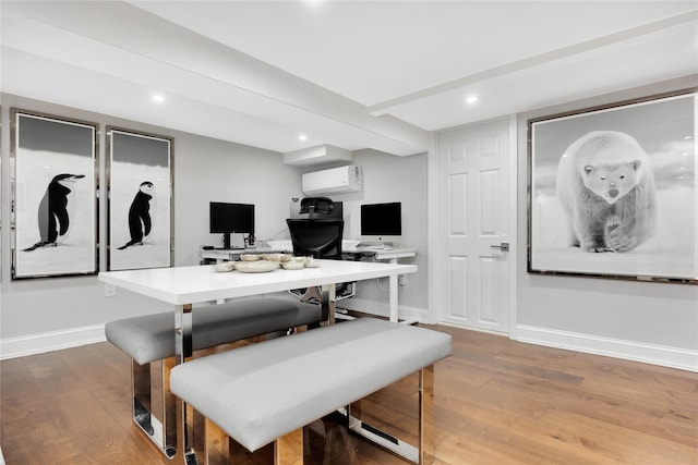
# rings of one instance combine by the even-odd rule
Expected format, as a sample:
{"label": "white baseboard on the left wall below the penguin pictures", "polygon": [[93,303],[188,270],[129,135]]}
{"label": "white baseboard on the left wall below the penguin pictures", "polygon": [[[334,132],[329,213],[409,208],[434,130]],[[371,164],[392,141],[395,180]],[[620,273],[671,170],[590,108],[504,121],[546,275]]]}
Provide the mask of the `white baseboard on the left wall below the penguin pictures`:
{"label": "white baseboard on the left wall below the penguin pictures", "polygon": [[43,354],[104,341],[106,341],[104,325],[9,338],[0,341],[0,359]]}

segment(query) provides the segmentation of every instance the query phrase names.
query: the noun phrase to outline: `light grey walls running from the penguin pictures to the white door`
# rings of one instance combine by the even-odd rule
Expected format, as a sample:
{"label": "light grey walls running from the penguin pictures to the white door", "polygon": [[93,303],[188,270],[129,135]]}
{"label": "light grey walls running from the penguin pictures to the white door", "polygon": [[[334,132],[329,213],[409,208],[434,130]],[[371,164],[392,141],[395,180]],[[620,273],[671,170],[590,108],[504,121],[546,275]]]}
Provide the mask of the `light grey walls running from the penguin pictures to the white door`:
{"label": "light grey walls running from the penguin pictures to the white door", "polygon": [[[106,125],[143,131],[173,137],[174,178],[174,266],[197,265],[201,245],[219,245],[219,235],[208,233],[208,201],[241,201],[255,204],[256,237],[288,238],[285,219],[289,215],[292,197],[302,197],[300,174],[313,169],[299,169],[282,163],[280,154],[200,137],[163,127],[143,125],[118,118],[81,111],[72,108],[2,95],[2,224],[10,223],[10,108],[39,111],[100,124],[100,179],[105,179]],[[401,200],[406,208],[406,242],[426,254],[426,178],[425,156],[399,158],[382,154],[357,154],[356,161],[363,166],[364,191],[347,198],[350,216],[356,216],[361,201]],[[397,175],[385,175],[392,173]],[[352,194],[353,195],[353,194]],[[105,196],[100,196],[100,211],[106,211]],[[337,196],[337,199],[341,196]],[[351,204],[354,204],[351,206]],[[356,209],[357,213],[352,211]],[[104,217],[104,216],[103,216]],[[100,241],[106,240],[106,221],[100,222]],[[19,356],[79,343],[104,340],[104,323],[144,311],[166,311],[170,307],[153,299],[118,290],[115,297],[105,297],[104,286],[96,276],[31,280],[11,280],[10,230],[0,231],[2,250],[0,265],[0,357]],[[400,290],[400,304],[425,313],[426,261],[420,256],[418,276],[410,277],[408,286]],[[100,267],[106,253],[100,254]],[[387,283],[382,283],[387,287]],[[387,306],[387,292],[374,282],[360,290],[361,309],[375,306],[378,311]],[[387,311],[387,310],[386,310]]]}

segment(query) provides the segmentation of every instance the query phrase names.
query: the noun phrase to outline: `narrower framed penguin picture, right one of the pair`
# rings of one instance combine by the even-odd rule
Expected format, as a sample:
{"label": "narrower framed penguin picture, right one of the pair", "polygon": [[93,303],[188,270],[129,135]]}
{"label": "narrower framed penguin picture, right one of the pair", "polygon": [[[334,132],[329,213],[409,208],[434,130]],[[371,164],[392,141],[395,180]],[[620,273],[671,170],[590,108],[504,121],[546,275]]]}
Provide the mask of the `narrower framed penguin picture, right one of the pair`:
{"label": "narrower framed penguin picture, right one of the pair", "polygon": [[172,262],[172,139],[107,127],[108,269]]}

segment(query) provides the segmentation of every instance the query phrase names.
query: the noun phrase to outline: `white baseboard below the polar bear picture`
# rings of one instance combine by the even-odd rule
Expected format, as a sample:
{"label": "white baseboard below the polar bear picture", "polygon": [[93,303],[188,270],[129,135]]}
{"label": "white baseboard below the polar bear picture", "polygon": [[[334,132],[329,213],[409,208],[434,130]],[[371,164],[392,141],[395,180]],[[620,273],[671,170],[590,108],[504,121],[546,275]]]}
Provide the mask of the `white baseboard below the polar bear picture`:
{"label": "white baseboard below the polar bear picture", "polygon": [[698,351],[520,325],[517,341],[698,372]]}

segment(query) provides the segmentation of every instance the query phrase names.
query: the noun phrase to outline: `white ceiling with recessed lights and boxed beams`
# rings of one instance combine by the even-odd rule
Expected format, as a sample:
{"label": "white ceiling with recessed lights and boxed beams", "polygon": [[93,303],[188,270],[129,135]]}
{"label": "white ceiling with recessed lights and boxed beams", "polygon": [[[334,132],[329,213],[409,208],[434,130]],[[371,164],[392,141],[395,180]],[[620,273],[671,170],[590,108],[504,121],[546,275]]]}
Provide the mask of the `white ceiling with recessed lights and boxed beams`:
{"label": "white ceiling with recessed lights and boxed beams", "polygon": [[2,91],[279,152],[412,155],[432,131],[698,73],[696,1],[3,0],[0,12]]}

